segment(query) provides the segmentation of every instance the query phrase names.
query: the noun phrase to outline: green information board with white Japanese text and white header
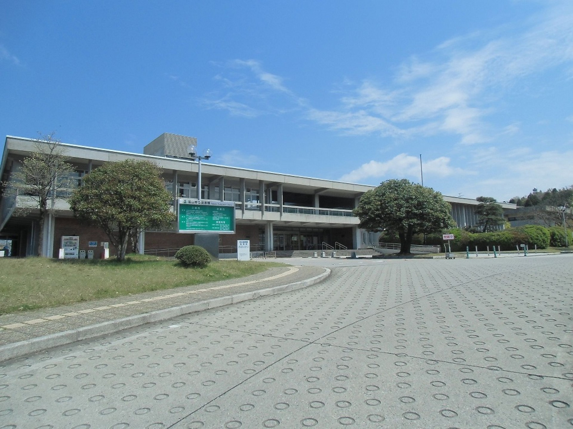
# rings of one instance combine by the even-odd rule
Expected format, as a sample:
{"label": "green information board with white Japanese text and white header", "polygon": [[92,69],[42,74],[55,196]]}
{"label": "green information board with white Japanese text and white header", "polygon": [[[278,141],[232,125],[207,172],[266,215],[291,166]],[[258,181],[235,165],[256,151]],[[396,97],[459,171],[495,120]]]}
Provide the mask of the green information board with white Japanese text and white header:
{"label": "green information board with white Japanese text and white header", "polygon": [[235,203],[233,201],[179,198],[177,211],[178,232],[235,233]]}

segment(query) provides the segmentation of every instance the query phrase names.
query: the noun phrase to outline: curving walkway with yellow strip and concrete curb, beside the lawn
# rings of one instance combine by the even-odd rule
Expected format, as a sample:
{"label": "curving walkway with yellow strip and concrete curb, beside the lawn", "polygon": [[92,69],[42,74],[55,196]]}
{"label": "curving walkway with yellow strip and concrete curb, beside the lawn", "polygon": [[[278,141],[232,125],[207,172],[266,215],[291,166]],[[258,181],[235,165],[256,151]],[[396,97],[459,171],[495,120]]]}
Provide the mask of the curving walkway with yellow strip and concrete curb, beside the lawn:
{"label": "curving walkway with yellow strip and concrete curb, beside the lawn", "polygon": [[0,362],[145,323],[294,291],[329,274],[321,267],[274,267],[243,279],[2,315]]}

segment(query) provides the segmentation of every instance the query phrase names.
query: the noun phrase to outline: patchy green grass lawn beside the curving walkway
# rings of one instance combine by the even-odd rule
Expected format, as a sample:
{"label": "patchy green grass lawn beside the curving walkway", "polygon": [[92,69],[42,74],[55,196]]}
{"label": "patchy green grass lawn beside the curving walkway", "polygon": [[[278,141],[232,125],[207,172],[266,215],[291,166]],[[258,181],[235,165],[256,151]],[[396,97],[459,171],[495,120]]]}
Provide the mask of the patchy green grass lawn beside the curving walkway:
{"label": "patchy green grass lawn beside the curving walkway", "polygon": [[0,314],[236,279],[281,265],[219,260],[199,269],[140,255],[132,255],[123,263],[114,259],[4,257],[0,258]]}

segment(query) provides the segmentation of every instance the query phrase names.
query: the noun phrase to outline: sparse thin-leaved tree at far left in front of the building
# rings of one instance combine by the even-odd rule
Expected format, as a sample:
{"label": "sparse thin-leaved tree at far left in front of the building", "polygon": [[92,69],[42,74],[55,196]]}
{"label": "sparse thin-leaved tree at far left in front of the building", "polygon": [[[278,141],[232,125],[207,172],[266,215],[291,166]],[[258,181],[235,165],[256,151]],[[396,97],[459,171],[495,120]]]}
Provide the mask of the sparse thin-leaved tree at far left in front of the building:
{"label": "sparse thin-leaved tree at far left in front of the building", "polygon": [[17,212],[27,216],[39,212],[37,256],[44,255],[44,225],[49,214],[54,212],[57,198],[66,198],[70,188],[76,182],[70,177],[73,166],[66,162],[64,148],[60,140],[50,133],[46,136],[40,134],[35,141],[36,148],[32,154],[24,158],[15,168],[9,182],[3,183],[6,196],[23,197]]}

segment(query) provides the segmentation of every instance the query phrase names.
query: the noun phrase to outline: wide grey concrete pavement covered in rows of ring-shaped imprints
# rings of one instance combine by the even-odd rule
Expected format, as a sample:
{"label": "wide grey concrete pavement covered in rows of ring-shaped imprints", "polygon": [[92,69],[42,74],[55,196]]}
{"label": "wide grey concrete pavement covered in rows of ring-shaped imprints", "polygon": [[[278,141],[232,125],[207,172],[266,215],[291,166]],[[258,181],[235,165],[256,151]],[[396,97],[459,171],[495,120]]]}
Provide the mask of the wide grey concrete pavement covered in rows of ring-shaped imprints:
{"label": "wide grey concrete pavement covered in rows of ring-shaped imprints", "polygon": [[0,428],[573,427],[573,255],[319,284],[0,363]]}

